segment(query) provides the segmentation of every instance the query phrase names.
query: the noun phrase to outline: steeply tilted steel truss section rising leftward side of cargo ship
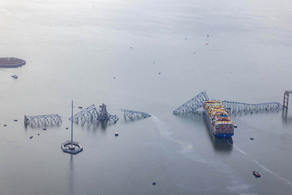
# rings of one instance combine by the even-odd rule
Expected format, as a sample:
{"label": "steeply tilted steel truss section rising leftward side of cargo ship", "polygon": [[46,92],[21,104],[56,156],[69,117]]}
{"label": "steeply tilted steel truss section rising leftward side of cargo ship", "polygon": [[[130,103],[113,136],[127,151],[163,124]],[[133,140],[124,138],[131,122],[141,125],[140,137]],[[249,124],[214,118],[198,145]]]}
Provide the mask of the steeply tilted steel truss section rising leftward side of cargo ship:
{"label": "steeply tilted steel truss section rising leftward side of cargo ship", "polygon": [[173,114],[194,112],[198,108],[203,107],[206,100],[209,100],[206,91],[201,92],[197,96],[184,103],[179,108],[175,109],[175,111],[173,111]]}

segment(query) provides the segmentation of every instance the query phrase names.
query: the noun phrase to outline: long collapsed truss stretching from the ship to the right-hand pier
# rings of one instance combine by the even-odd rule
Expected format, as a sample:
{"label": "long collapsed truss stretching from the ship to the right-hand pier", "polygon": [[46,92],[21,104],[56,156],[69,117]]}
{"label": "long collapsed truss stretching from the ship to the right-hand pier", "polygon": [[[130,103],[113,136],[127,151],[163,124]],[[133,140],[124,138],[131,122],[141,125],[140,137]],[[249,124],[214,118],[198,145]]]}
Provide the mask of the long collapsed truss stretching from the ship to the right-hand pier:
{"label": "long collapsed truss stretching from the ship to the right-hand pier", "polygon": [[279,102],[271,102],[271,103],[240,103],[240,102],[233,102],[233,101],[221,101],[223,106],[227,111],[253,111],[253,110],[261,110],[261,109],[279,109],[283,108],[283,106]]}

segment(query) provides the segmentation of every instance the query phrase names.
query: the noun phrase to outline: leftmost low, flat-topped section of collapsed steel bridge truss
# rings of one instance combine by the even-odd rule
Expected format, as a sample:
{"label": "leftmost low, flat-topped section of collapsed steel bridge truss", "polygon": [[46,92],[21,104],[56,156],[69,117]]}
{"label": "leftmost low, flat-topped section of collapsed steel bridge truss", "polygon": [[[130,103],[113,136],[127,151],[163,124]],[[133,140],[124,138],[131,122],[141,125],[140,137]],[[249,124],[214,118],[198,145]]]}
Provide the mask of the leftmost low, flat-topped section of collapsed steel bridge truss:
{"label": "leftmost low, flat-topped section of collapsed steel bridge truss", "polygon": [[51,114],[51,115],[39,115],[39,116],[25,116],[25,124],[46,124],[47,122],[62,122],[61,116],[58,114]]}

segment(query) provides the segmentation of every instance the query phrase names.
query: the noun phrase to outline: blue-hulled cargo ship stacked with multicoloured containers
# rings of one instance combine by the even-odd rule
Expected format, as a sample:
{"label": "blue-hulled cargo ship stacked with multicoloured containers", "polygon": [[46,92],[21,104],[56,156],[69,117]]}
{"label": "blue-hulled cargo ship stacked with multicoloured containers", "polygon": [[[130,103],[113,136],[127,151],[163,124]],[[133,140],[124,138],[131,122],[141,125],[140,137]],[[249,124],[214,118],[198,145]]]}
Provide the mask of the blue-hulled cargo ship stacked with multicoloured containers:
{"label": "blue-hulled cargo ship stacked with multicoloured containers", "polygon": [[206,100],[204,110],[212,132],[218,137],[234,135],[234,127],[227,111],[218,100]]}

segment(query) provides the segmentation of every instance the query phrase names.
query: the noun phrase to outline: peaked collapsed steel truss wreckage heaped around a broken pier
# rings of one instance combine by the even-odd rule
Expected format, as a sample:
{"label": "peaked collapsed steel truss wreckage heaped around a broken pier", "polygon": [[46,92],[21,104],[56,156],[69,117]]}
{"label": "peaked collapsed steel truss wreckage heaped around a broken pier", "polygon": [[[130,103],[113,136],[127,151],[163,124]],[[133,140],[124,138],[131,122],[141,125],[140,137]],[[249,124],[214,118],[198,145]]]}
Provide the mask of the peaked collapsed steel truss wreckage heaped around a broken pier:
{"label": "peaked collapsed steel truss wreckage heaped around a broken pier", "polygon": [[[117,115],[110,115],[107,111],[106,111],[106,105],[102,104],[102,110],[100,109],[96,109],[94,104],[89,106],[88,108],[85,108],[83,111],[73,115],[73,121],[78,122],[79,118],[81,119],[81,121],[86,121],[86,120],[119,120],[119,118],[117,117]],[[72,117],[69,118],[69,120],[71,120]]]}

